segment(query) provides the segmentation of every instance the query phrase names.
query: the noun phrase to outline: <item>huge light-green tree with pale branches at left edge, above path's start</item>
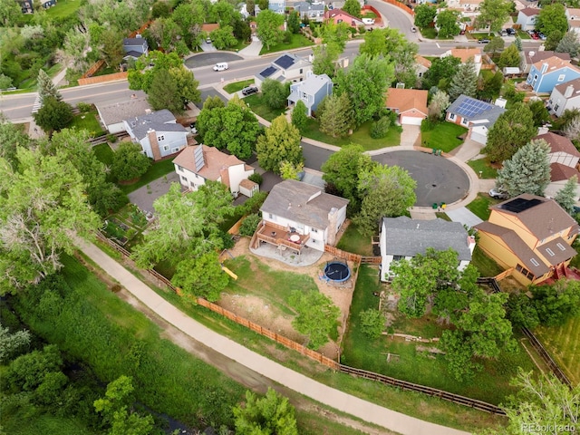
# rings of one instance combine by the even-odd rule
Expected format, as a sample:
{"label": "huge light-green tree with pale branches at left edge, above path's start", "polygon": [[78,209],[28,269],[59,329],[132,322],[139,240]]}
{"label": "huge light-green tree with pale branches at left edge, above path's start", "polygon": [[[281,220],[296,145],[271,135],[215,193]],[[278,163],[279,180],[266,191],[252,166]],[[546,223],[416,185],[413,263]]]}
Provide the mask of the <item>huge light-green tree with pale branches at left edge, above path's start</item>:
{"label": "huge light-green tree with pale branches at left edge, above path's start", "polygon": [[99,217],[70,161],[19,149],[18,169],[0,159],[0,292],[38,283],[73,253],[73,236],[90,237]]}

